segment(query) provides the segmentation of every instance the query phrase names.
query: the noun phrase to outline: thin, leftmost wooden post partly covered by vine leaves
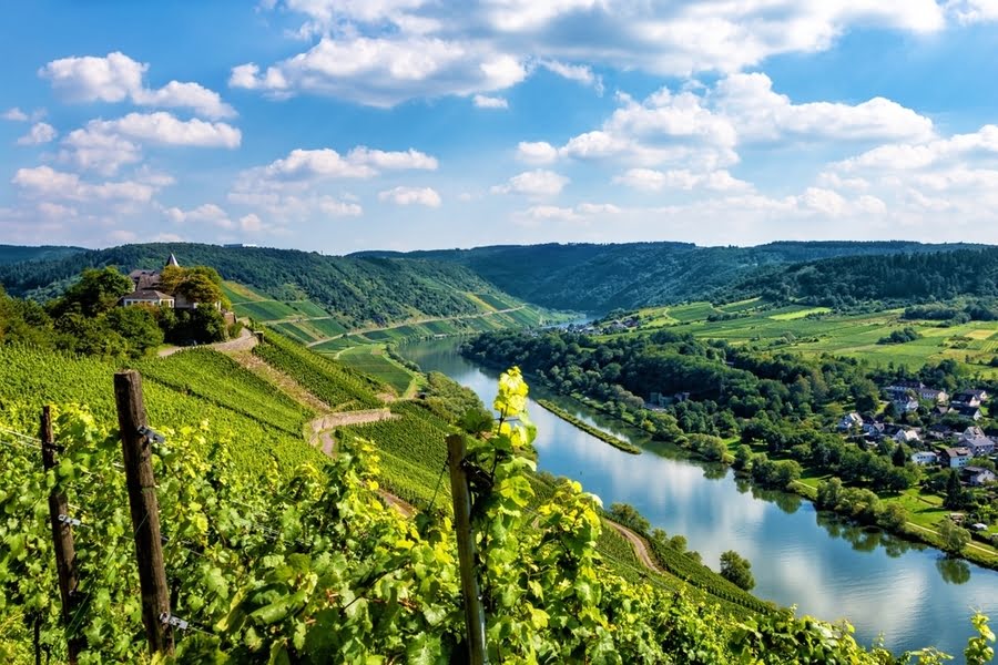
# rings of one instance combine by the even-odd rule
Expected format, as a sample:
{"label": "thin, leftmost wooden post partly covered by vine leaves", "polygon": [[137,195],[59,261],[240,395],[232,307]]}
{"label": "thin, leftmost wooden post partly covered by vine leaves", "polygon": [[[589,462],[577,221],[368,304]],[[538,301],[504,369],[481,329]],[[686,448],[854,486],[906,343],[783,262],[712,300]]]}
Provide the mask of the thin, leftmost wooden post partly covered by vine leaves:
{"label": "thin, leftmost wooden post partly covered by vine leaves", "polygon": [[[52,411],[47,406],[41,415],[42,466],[45,471],[55,468],[55,438],[52,434]],[[49,516],[52,522],[52,542],[55,544],[55,570],[59,573],[59,595],[62,598],[62,623],[69,630],[77,605],[77,550],[73,546],[73,526],[65,494],[58,489],[49,493]],[[84,642],[82,637],[67,635],[69,662],[77,664]]]}

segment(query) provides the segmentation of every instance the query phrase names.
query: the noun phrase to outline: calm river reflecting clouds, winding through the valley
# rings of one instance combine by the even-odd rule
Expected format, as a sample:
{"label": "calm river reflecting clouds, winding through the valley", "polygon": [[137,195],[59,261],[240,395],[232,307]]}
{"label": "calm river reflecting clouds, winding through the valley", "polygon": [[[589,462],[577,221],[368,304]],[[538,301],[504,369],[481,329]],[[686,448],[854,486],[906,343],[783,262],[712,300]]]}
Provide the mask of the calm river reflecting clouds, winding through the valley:
{"label": "calm river reflecting clouds, winding through the valley", "polygon": [[[491,405],[497,372],[462,358],[457,345],[439,339],[399,350],[424,371],[442,372]],[[580,481],[607,507],[634,505],[652,526],[685,535],[690,549],[714,570],[722,552],[737,551],[752,562],[753,593],[762,598],[827,621],[847,617],[866,645],[883,634],[892,651],[936,646],[956,663],[963,662],[972,634],[972,611],[998,621],[996,571],[843,523],[793,494],[754,491],[730,471],[651,442],[573,400],[538,387],[531,387],[531,396],[552,399],[645,449],[640,456],[617,450],[531,400],[540,470]]]}

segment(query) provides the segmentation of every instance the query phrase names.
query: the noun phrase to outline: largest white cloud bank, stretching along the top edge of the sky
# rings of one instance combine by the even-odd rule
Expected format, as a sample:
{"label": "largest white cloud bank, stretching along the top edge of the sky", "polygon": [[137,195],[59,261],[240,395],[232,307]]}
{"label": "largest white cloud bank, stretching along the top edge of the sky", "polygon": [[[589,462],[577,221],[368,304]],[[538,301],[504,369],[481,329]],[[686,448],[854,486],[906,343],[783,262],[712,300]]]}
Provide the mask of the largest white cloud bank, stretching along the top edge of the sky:
{"label": "largest white cloud bank, stretching along the top edge of the sky", "polygon": [[599,91],[592,66],[733,73],[772,55],[828,49],[853,28],[927,33],[948,16],[982,20],[992,1],[273,1],[264,7],[304,17],[297,35],[317,42],[273,64],[238,65],[230,84],[390,106],[503,90],[541,66]]}

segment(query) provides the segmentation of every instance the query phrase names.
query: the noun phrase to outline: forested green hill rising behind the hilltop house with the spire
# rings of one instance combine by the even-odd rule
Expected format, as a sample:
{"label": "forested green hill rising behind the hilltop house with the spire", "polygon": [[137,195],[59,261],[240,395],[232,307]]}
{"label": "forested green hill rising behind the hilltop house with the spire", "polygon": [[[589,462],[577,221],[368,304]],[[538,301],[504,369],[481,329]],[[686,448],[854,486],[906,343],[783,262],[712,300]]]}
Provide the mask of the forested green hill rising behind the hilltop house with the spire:
{"label": "forested green hill rising behind the hilltop house with the spire", "polygon": [[12,295],[44,297],[64,288],[83,268],[115,266],[125,273],[160,268],[171,253],[182,266],[212,266],[223,278],[277,300],[310,299],[336,313],[347,327],[478,314],[485,306],[472,294],[502,295],[454,263],[182,243],[124,245],[54,260],[0,265],[0,285]]}

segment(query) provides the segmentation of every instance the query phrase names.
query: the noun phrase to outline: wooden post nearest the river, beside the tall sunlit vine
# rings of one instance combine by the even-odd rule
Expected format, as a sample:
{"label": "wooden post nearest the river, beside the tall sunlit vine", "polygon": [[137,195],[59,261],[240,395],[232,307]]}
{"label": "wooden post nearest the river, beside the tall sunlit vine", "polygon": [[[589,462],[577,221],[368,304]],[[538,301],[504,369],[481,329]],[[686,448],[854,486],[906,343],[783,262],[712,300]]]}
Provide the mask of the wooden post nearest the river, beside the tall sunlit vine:
{"label": "wooden post nearest the river, beside the tall sunlit vine", "polygon": [[454,530],[458,541],[458,562],[461,570],[461,596],[465,602],[465,625],[471,665],[488,665],[485,637],[485,608],[478,587],[475,562],[475,535],[471,533],[471,494],[462,462],[467,454],[465,438],[447,437],[447,464],[450,468],[450,492],[454,497]]}

